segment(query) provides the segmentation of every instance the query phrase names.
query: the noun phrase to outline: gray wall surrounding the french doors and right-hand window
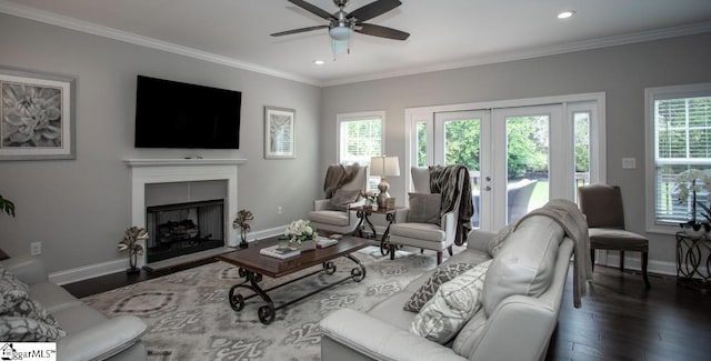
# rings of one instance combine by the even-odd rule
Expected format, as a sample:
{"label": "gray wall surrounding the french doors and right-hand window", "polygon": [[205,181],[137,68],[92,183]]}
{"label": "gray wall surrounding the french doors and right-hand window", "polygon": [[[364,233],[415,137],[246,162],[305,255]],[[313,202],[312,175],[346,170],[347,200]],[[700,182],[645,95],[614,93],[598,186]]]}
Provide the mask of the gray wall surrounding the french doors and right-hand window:
{"label": "gray wall surrounding the french doors and right-hand window", "polygon": [[[403,159],[405,108],[602,91],[608,182],[623,190],[629,228],[644,233],[644,88],[711,81],[710,44],[705,33],[324,88],[321,163],[337,160],[338,113],[385,110],[385,153]],[[637,158],[637,169],[622,170],[623,157]],[[404,177],[388,180],[392,197],[404,199]],[[648,235],[651,262],[673,263],[673,237]]]}

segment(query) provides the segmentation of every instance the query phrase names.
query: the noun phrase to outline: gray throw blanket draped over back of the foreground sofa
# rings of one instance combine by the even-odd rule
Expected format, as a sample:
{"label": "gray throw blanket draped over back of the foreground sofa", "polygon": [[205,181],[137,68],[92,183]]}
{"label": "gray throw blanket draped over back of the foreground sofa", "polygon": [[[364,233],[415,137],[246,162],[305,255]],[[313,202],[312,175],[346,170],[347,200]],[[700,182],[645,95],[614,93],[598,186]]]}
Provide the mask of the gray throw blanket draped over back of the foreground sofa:
{"label": "gray throw blanket draped over back of the foreground sofa", "polygon": [[590,238],[588,237],[588,222],[585,217],[580,212],[575,203],[564,200],[554,199],[545,203],[542,208],[533,210],[523,215],[518,222],[521,222],[533,215],[548,217],[560,227],[563,228],[565,234],[573,240],[574,261],[573,261],[573,305],[580,308],[581,299],[588,291],[588,281],[592,280],[592,264],[590,262]]}

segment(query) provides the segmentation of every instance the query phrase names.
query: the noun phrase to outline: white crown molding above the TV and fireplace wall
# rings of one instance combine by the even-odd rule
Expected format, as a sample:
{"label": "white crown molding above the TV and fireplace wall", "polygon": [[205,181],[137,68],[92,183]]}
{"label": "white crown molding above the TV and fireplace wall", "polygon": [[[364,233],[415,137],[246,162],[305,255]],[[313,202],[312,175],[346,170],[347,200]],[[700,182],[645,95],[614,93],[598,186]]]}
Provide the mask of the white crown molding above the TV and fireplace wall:
{"label": "white crown molding above the TV and fireplace wall", "polygon": [[60,16],[60,14],[44,11],[44,10],[20,6],[6,0],[0,0],[0,12],[19,17],[19,18],[24,18],[29,20],[34,20],[34,21],[66,28],[66,29],[81,31],[81,32],[93,34],[93,36],[119,40],[119,41],[123,41],[123,42],[128,42],[128,43],[132,43],[141,47],[172,52],[174,54],[189,57],[189,58],[203,60],[203,61],[209,61],[209,62],[213,62],[213,63],[218,63],[218,64],[222,64],[231,68],[248,70],[248,71],[261,73],[261,74],[287,79],[287,80],[293,80],[293,81],[298,81],[298,82],[302,82],[311,86],[320,86],[318,81],[310,78],[304,78],[304,77],[287,73],[283,71],[261,67],[254,63],[240,61],[229,57],[223,57],[223,56],[214,54],[211,52],[179,46],[168,41],[162,41],[153,38],[139,36],[128,31],[103,27],[93,22],[82,21],[82,20]]}

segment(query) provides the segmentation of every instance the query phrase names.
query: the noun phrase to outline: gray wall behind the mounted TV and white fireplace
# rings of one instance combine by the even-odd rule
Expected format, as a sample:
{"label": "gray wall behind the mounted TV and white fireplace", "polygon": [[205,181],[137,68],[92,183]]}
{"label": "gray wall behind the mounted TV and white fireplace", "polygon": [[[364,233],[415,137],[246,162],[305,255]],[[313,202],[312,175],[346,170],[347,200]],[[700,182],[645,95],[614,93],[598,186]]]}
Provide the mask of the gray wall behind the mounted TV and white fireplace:
{"label": "gray wall behind the mounted TV and white fireplace", "polygon": [[[0,34],[0,67],[77,77],[77,159],[0,161],[0,194],[17,205],[17,218],[0,215],[0,248],[10,254],[41,241],[50,272],[127,259],[117,251],[131,225],[126,158],[247,159],[238,201],[254,213],[253,231],[306,217],[319,195],[319,88],[7,14]],[[240,149],[134,149],[137,74],[241,91]],[[264,106],[296,109],[296,160],[263,159]]]}

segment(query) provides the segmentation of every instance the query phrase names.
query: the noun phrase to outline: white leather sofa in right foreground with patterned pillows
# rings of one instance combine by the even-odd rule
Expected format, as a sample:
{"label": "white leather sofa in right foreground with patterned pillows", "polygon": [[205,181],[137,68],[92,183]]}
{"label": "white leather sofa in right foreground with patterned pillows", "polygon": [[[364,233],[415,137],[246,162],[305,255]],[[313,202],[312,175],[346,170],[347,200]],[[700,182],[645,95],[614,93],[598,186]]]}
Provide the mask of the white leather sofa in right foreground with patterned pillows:
{"label": "white leather sofa in right foreground with patterned pillows", "polygon": [[[448,263],[491,259],[497,233],[472,231],[468,248]],[[481,291],[482,308],[453,341],[439,344],[409,331],[417,313],[403,310],[425,273],[368,312],[341,309],[320,322],[321,359],[328,360],[543,360],[565,288],[573,241],[553,219],[532,215],[505,240]]]}

